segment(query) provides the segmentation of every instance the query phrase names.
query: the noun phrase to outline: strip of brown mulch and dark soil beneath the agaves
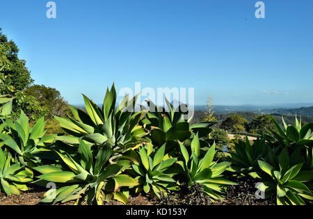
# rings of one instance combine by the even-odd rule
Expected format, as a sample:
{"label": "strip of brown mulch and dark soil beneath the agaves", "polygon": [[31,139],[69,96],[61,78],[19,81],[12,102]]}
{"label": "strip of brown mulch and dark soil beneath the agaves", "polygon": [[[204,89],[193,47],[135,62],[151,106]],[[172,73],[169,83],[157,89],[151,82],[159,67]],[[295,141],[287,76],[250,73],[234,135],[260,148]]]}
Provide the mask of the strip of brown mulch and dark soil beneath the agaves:
{"label": "strip of brown mulch and dark soil beneath the agaves", "polygon": [[[212,203],[206,195],[202,193],[199,185],[183,185],[179,193],[172,193],[168,197],[162,195],[161,200],[157,197],[145,197],[138,195],[129,197],[127,205],[274,205],[273,200],[257,200],[255,197],[255,184],[257,181],[252,179],[238,179],[239,186],[229,186],[227,195],[221,202]],[[43,195],[47,189],[40,187],[31,187],[27,192],[21,192],[21,195],[10,195],[0,193],[0,205],[42,205]],[[74,202],[68,202],[64,205],[72,205]],[[122,205],[122,203],[113,201],[107,205]]]}

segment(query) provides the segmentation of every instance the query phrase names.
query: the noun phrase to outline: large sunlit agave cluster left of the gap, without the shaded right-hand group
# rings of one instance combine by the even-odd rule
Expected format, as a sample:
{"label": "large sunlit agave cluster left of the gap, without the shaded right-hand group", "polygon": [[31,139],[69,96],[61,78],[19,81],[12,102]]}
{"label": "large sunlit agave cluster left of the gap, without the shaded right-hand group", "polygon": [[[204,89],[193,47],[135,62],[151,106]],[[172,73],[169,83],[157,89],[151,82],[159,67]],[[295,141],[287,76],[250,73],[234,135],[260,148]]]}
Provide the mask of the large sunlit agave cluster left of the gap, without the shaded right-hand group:
{"label": "large sunlit agave cluster left of the gap, without the shaded right-hand group", "polygon": [[114,85],[102,108],[83,99],[86,111],[71,106],[71,116],[55,117],[68,134],[63,136],[45,135],[43,117],[33,127],[23,112],[13,120],[8,117],[11,105],[3,106],[2,191],[17,194],[27,189],[26,183],[54,183],[42,202],[103,204],[113,199],[127,203],[133,192],[160,197],[182,182],[202,184],[218,200],[224,185],[233,184],[221,175],[230,163],[213,161],[215,146],[204,140],[216,122],[190,125],[186,113],[169,102],[169,111],[135,112],[136,97],[126,96],[115,108]]}

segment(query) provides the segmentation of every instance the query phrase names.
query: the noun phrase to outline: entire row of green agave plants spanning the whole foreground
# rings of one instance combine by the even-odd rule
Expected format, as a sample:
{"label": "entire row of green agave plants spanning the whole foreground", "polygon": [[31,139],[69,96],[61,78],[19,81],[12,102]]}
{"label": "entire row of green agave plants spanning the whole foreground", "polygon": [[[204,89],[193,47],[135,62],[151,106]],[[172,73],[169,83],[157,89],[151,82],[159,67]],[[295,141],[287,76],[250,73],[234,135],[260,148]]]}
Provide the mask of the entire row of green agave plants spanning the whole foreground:
{"label": "entire row of green agave plants spanning the whole foreground", "polygon": [[[0,97],[0,190],[7,195],[26,184],[51,186],[42,202],[104,204],[128,202],[131,193],[161,197],[182,184],[202,186],[211,201],[221,200],[228,178],[259,179],[259,190],[278,204],[313,201],[313,124],[280,127],[250,144],[239,141],[226,161],[205,137],[216,122],[190,124],[166,100],[168,110],[147,102],[135,112],[137,97],[118,107],[114,85],[102,107],[83,96],[85,110],[71,106],[67,118],[55,117],[67,135],[45,135],[45,120],[33,126],[23,113],[10,117],[12,98]],[[211,144],[210,144],[211,143]]]}

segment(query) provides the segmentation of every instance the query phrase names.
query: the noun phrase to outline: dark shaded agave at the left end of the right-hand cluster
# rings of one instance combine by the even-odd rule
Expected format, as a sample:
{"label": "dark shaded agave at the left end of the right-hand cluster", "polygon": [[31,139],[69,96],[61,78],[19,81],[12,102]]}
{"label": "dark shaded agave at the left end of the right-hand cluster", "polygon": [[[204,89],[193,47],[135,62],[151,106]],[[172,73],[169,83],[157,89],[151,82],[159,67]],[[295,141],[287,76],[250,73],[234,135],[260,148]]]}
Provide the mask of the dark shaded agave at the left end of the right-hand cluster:
{"label": "dark shaded agave at the left end of the right-hand cluster", "polygon": [[239,140],[235,143],[234,152],[230,152],[228,160],[232,163],[232,169],[239,175],[247,175],[252,172],[259,172],[257,161],[268,156],[269,146],[264,139],[257,139],[251,145],[248,137],[246,142]]}

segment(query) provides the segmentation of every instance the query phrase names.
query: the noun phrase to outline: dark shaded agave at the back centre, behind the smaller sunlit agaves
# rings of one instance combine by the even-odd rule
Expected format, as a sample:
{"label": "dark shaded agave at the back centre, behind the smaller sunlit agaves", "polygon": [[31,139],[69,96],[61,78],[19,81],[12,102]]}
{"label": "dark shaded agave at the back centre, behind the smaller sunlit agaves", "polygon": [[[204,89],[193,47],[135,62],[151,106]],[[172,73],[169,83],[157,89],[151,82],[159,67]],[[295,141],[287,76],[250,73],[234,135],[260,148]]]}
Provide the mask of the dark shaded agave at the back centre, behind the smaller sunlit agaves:
{"label": "dark shaded agave at the back centre, behind the smaller sunlit agaves", "polygon": [[[198,133],[202,145],[209,147],[209,144],[204,138],[213,131],[209,127],[218,122],[199,122],[190,125],[189,122],[191,119],[186,118],[188,114],[186,104],[181,104],[176,109],[167,99],[166,104],[168,111],[163,107],[158,108],[151,101],[147,101],[150,111],[142,122],[144,127],[150,130],[152,143],[157,147],[166,144],[166,152],[170,152],[173,149],[179,148],[178,141],[184,142],[185,140],[192,139],[195,133]],[[189,144],[190,142],[191,140]]]}

